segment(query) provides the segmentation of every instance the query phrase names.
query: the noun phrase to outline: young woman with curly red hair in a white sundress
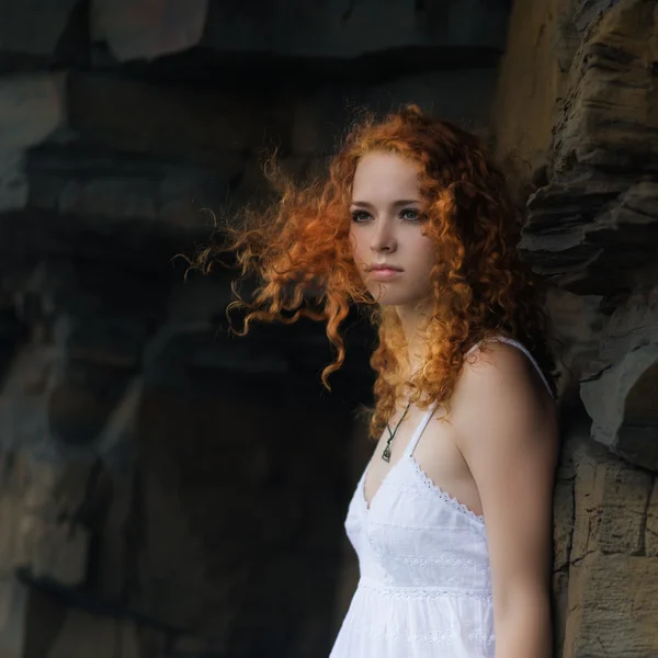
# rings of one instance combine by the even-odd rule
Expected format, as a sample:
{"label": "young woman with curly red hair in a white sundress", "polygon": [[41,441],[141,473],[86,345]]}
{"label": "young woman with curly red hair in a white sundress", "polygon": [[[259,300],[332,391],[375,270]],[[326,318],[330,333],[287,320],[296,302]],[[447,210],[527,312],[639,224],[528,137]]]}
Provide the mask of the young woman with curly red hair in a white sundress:
{"label": "young woman with curly red hair in a white sundress", "polygon": [[261,281],[248,321],[326,320],[325,383],[349,305],[378,327],[378,443],[345,522],[361,579],[331,658],[551,656],[558,432],[519,231],[480,140],[409,106],[231,232]]}

